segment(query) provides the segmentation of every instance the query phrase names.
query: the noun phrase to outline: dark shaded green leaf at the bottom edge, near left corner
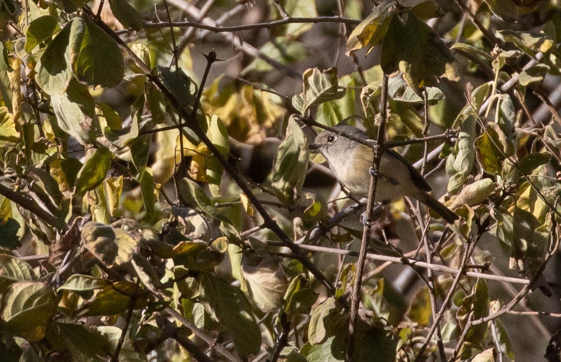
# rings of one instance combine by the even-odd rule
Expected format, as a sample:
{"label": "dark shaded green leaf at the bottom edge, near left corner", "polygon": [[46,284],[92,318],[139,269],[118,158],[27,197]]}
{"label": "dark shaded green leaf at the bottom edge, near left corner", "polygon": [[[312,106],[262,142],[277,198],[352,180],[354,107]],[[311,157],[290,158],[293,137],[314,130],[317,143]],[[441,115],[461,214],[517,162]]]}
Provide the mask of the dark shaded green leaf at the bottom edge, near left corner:
{"label": "dark shaded green leaf at the bottom edge, near left corner", "polygon": [[104,360],[112,355],[107,338],[84,324],[51,323],[45,338],[53,350],[68,350],[76,361]]}

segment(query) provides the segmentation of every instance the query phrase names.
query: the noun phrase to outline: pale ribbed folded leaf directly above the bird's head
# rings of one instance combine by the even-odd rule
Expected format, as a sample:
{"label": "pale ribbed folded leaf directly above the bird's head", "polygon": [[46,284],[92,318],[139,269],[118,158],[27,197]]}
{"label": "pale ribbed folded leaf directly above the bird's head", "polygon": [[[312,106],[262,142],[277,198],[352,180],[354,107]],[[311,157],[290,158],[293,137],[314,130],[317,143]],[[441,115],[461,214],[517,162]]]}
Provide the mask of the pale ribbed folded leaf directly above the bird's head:
{"label": "pale ribbed folded leaf directly above the bird's head", "polygon": [[[292,104],[305,114],[306,110],[313,105],[339,99],[345,95],[345,91],[338,90],[337,68],[329,68],[325,71],[320,71],[318,68],[309,68],[302,74],[304,80],[304,92],[299,98],[292,99]],[[296,97],[296,96],[295,96]],[[300,104],[300,99],[302,104]]]}

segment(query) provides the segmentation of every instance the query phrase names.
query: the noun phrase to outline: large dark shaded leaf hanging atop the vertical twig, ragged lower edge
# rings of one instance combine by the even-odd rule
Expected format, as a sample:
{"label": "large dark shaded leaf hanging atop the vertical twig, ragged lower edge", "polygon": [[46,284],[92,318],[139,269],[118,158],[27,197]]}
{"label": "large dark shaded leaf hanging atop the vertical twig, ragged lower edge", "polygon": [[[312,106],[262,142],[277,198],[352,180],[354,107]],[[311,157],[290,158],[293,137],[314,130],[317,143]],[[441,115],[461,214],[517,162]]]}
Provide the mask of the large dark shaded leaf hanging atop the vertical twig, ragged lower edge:
{"label": "large dark shaded leaf hanging atop the vertical twig, ragged lower edge", "polygon": [[[439,77],[457,80],[456,59],[439,35],[412,12],[406,20],[392,16],[380,49],[380,65],[386,74],[401,70],[412,89],[433,86]],[[403,15],[402,15],[403,16]]]}

